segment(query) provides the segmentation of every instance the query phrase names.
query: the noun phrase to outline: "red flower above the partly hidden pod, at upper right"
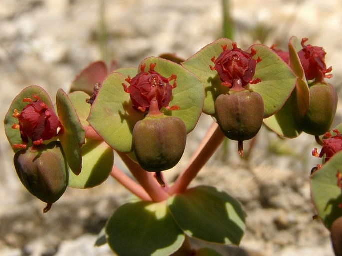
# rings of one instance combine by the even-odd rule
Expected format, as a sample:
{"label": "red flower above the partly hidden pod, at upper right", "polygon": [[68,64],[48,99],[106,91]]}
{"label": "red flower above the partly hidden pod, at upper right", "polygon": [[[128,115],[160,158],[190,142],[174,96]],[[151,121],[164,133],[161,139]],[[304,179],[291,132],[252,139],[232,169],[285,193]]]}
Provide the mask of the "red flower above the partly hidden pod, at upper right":
{"label": "red flower above the partly hidden pod, at upper right", "polygon": [[327,68],[324,62],[326,52],[322,47],[312,46],[310,44],[304,45],[308,38],[303,38],[301,45],[302,50],[298,51],[299,59],[304,69],[307,80],[316,79],[323,82],[323,78],[331,78],[331,74],[326,74],[332,71],[332,67]]}

